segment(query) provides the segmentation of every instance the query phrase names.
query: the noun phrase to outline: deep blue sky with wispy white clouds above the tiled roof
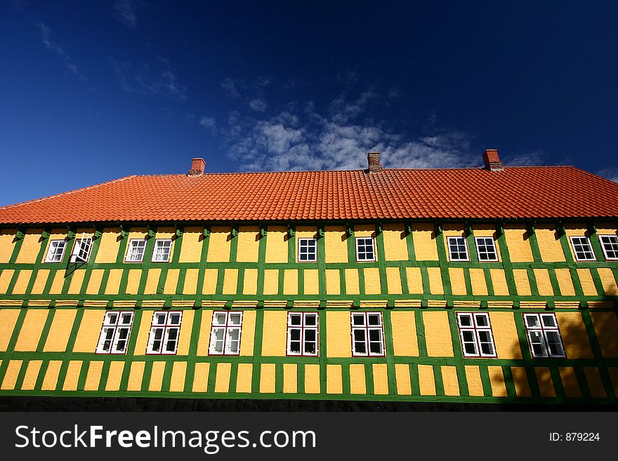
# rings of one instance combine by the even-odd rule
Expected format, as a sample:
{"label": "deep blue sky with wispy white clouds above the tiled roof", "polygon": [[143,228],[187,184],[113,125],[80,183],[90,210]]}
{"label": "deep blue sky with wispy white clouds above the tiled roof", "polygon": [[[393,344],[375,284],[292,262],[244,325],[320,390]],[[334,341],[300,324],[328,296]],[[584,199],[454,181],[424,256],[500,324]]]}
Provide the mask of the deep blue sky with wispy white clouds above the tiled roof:
{"label": "deep blue sky with wispy white clouds above the tiled roof", "polygon": [[570,164],[618,180],[615,2],[0,6],[0,205],[132,174]]}

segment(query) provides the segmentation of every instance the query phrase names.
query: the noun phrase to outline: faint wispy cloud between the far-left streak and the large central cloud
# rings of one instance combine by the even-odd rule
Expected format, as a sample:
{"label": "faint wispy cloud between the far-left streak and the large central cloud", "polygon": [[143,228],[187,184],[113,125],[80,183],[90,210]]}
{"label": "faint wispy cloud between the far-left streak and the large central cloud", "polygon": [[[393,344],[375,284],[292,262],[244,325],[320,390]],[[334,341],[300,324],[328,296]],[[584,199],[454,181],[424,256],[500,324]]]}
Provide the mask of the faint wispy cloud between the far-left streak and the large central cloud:
{"label": "faint wispy cloud between the far-left streak and the large central cloud", "polygon": [[187,87],[179,83],[168,60],[157,56],[153,62],[136,66],[131,62],[112,60],[114,72],[124,91],[138,94],[161,94],[182,101],[187,98]]}

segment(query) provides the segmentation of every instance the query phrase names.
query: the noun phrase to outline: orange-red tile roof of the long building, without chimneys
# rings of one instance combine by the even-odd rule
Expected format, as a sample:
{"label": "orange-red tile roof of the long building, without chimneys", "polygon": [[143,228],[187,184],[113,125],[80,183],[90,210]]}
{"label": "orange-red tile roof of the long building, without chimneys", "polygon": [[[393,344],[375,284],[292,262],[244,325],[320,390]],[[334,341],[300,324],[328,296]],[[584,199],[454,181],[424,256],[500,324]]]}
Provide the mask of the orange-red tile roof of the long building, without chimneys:
{"label": "orange-red tile roof of the long building, without chimneys", "polygon": [[128,176],[0,208],[0,224],[616,217],[618,184],[572,166]]}

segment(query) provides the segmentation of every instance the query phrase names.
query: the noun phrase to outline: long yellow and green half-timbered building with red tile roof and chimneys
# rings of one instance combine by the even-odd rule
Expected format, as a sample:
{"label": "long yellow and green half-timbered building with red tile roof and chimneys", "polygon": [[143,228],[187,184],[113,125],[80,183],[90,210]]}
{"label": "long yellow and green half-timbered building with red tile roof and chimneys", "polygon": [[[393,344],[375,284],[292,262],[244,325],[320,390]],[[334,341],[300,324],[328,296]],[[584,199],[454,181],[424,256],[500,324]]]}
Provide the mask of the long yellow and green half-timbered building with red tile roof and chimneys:
{"label": "long yellow and green half-timbered building with red tile roof and chimneys", "polygon": [[0,208],[0,395],[616,403],[618,185],[129,176]]}

